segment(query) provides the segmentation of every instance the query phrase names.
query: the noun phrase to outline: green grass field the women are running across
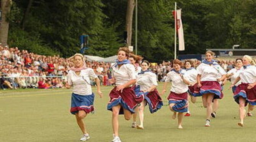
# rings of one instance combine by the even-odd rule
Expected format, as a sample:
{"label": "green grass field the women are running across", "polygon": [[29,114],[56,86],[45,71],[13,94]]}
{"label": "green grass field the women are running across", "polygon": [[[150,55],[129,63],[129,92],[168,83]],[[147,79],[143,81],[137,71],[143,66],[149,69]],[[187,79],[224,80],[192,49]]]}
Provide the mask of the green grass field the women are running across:
{"label": "green grass field the women are running across", "polygon": [[[159,92],[162,86],[159,84]],[[150,114],[146,107],[144,130],[131,128],[132,121],[126,121],[120,115],[119,134],[122,142],[256,141],[254,116],[245,118],[245,127],[237,126],[238,104],[233,101],[228,86],[224,87],[224,98],[220,100],[217,117],[211,120],[211,127],[204,127],[206,109],[202,107],[201,98],[198,98],[197,103],[190,103],[191,116],[184,117],[184,129],[177,129],[177,119],[171,119],[166,93],[162,96],[164,106],[158,112]],[[95,114],[89,114],[84,119],[91,136],[89,142],[112,140],[112,113],[106,110],[111,88],[102,87],[104,97],[100,99],[96,95]],[[71,90],[65,89],[0,92],[0,142],[78,142],[81,131],[74,115],[69,112],[70,96]]]}

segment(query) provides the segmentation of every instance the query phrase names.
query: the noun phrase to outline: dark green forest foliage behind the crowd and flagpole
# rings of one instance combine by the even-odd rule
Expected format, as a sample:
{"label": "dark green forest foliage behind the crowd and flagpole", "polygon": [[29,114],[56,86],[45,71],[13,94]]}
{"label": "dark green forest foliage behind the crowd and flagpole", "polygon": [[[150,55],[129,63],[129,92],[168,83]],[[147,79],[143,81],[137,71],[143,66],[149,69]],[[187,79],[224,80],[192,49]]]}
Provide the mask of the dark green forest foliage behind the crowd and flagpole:
{"label": "dark green forest foliage behind the crowd and flagpole", "polygon": [[[182,8],[185,38],[185,51],[179,54],[202,54],[206,48],[231,48],[233,44],[256,47],[255,0],[176,2]],[[138,0],[138,54],[151,62],[173,58],[173,9],[174,0]],[[127,0],[13,0],[8,43],[39,54],[68,57],[79,52],[79,36],[88,34],[85,54],[108,57],[124,45],[126,10]],[[133,19],[133,33],[134,24]]]}

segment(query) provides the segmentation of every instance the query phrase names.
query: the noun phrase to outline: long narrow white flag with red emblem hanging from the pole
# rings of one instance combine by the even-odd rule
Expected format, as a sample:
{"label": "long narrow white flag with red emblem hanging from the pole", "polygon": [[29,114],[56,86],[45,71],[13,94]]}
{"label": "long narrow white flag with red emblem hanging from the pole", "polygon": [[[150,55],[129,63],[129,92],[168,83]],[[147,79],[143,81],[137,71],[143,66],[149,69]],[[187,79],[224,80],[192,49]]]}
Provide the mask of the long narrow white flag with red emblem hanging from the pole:
{"label": "long narrow white flag with red emblem hanging from the pole", "polygon": [[183,26],[181,21],[181,9],[177,10],[177,28],[178,28],[178,38],[179,38],[179,50],[185,50],[184,43],[184,34],[183,34]]}

